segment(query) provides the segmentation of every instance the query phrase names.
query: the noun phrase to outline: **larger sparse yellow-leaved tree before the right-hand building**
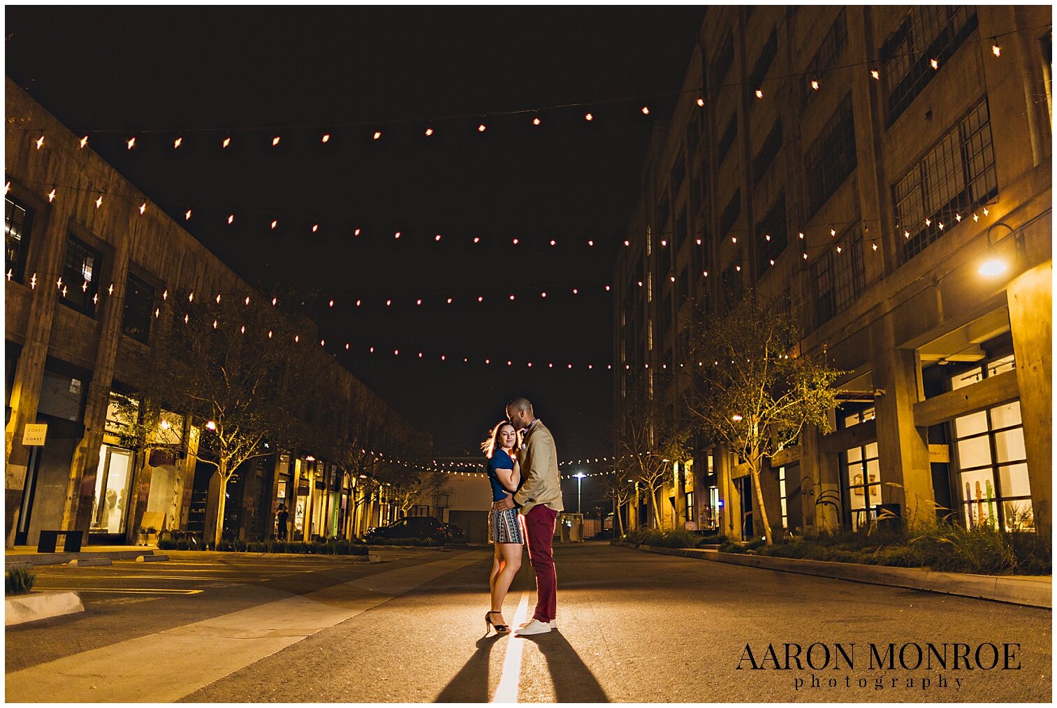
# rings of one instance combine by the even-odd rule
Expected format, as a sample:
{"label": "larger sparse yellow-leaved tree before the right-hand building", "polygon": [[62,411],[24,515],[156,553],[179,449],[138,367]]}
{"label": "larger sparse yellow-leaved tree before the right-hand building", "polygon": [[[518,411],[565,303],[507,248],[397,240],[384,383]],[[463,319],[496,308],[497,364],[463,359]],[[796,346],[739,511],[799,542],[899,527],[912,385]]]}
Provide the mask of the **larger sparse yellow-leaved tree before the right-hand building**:
{"label": "larger sparse yellow-leaved tree before the right-hand building", "polygon": [[749,293],[725,316],[706,318],[694,336],[704,366],[688,403],[705,433],[749,466],[767,544],[773,541],[760,487],[763,460],[796,443],[804,425],[829,432],[833,383],[845,372],[798,354],[796,324]]}

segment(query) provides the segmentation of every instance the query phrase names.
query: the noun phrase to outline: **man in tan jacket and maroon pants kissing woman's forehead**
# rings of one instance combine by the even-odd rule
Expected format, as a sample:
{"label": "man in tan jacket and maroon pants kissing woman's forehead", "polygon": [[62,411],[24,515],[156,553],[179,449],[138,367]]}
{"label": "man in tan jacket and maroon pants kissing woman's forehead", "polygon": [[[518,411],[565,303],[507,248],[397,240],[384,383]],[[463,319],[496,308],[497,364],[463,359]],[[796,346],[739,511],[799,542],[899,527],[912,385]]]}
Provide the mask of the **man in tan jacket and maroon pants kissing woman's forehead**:
{"label": "man in tan jacket and maroon pants kissing woman's forehead", "polygon": [[540,423],[527,398],[515,398],[506,406],[506,417],[515,430],[524,430],[519,451],[521,488],[493,506],[508,509],[517,506],[527,532],[528,562],[536,572],[536,612],[515,634],[543,634],[557,627],[558,576],[554,572],[552,541],[554,522],[561,505],[561,479],[558,453],[551,431]]}

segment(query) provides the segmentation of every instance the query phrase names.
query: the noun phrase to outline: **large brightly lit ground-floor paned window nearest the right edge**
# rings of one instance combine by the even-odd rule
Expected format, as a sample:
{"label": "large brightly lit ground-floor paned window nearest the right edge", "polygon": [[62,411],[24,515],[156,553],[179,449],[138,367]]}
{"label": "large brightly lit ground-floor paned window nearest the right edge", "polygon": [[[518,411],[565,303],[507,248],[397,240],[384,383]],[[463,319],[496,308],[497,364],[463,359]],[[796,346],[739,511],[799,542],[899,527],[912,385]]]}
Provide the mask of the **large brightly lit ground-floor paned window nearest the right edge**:
{"label": "large brightly lit ground-floor paned window nearest the right edge", "polygon": [[[981,362],[950,377],[959,389],[1012,371],[1013,355]],[[991,526],[1006,532],[1033,530],[1032,489],[1020,402],[1014,400],[954,418],[952,458],[962,518],[969,528]]]}

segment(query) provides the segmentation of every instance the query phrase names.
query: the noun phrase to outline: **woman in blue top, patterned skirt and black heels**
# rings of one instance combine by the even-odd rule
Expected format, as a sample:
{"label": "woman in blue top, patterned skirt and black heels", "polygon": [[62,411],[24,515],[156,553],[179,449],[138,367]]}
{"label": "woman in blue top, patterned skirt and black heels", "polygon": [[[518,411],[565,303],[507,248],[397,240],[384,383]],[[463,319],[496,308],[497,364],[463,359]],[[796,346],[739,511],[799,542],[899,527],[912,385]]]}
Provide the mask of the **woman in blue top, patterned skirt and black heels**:
{"label": "woman in blue top, patterned skirt and black heels", "polygon": [[[498,502],[513,495],[521,482],[521,467],[517,461],[518,433],[514,426],[503,421],[481,443],[488,459],[488,480],[492,482],[492,500]],[[500,634],[511,631],[503,618],[503,600],[511,581],[521,567],[521,545],[524,535],[516,508],[493,509],[488,513],[488,541],[496,544],[496,555],[488,576],[492,589],[492,610],[484,615],[484,632],[494,627]]]}

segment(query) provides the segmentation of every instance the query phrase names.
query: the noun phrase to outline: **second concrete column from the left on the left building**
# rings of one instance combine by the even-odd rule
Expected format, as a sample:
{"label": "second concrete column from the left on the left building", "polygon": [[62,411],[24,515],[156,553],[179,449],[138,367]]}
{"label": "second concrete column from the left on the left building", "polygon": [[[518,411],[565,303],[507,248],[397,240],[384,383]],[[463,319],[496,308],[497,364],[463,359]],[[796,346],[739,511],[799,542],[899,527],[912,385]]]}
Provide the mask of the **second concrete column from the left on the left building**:
{"label": "second concrete column from the left on the left building", "polygon": [[85,433],[77,444],[70,462],[70,480],[62,506],[62,527],[79,528],[88,533],[92,523],[92,503],[95,500],[95,476],[99,467],[99,446],[107,426],[107,407],[110,387],[114,381],[114,362],[122,338],[122,318],[125,313],[125,283],[128,279],[129,247],[135,234],[135,224],[126,225],[130,236],[117,239],[112,263],[108,269],[114,292],[107,294],[99,283],[103,302],[98,349],[92,381],[88,386],[85,404]]}

